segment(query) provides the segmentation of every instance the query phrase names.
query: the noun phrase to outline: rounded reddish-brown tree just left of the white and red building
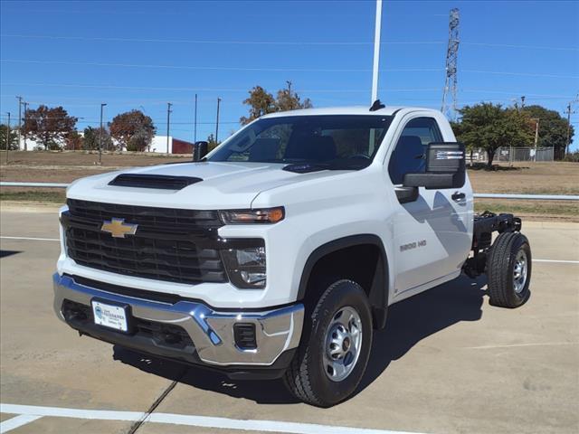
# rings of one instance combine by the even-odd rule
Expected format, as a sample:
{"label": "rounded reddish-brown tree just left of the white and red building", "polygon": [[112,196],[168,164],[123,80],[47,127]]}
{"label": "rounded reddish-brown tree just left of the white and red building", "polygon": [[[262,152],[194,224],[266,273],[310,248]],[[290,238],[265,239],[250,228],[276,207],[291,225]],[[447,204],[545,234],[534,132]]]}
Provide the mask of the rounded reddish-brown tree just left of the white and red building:
{"label": "rounded reddish-brown tree just left of the white and red building", "polygon": [[110,136],[128,151],[144,151],[155,136],[153,119],[140,110],[121,113],[109,123]]}

